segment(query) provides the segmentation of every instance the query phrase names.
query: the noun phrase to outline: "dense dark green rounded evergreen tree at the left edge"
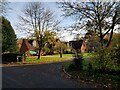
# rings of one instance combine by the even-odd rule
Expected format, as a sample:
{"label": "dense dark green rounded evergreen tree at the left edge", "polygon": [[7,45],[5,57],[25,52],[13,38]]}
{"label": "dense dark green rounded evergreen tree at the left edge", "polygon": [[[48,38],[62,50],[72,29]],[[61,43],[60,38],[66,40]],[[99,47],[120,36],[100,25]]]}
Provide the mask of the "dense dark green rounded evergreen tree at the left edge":
{"label": "dense dark green rounded evergreen tree at the left edge", "polygon": [[17,49],[17,40],[15,32],[10,22],[2,18],[2,53],[15,52]]}

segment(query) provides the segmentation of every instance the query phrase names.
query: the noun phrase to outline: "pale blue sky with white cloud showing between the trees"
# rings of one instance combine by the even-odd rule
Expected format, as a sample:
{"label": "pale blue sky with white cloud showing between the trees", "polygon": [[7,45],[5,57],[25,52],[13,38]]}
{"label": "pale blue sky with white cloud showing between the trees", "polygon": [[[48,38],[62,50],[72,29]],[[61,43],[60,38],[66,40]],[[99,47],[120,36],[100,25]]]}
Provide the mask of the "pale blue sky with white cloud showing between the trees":
{"label": "pale blue sky with white cloud showing between the trees", "polygon": [[[15,33],[17,35],[17,38],[24,38],[26,37],[26,34],[24,32],[21,32],[19,28],[16,27],[16,25],[19,22],[19,16],[23,15],[23,12],[21,10],[24,8],[24,6],[28,2],[25,0],[25,2],[10,2],[8,4],[8,7],[11,9],[8,11],[6,18],[11,22],[11,25],[13,29],[15,30]],[[72,18],[64,18],[61,17],[62,11],[58,8],[57,3],[55,2],[44,2],[44,7],[51,9],[54,12],[55,17],[61,21],[60,27],[67,27],[74,23]],[[74,38],[74,36],[71,36],[66,31],[62,30],[62,33],[60,34],[60,37],[63,37],[62,40],[64,41],[70,41]]]}

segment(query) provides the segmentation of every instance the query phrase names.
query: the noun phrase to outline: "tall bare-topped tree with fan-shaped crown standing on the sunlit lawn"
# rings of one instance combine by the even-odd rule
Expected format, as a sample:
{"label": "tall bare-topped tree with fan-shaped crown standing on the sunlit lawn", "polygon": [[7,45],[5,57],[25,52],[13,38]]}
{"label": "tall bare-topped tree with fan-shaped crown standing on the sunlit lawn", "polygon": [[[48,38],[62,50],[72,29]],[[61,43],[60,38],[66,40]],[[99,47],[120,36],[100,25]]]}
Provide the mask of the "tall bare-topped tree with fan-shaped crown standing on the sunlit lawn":
{"label": "tall bare-topped tree with fan-shaped crown standing on the sunlit lawn", "polygon": [[[44,36],[47,30],[56,30],[58,22],[54,20],[53,12],[44,8],[40,2],[30,2],[23,9],[24,16],[20,16],[21,25],[28,34],[35,37],[38,47],[38,59],[45,43]],[[29,31],[28,31],[29,30]]]}

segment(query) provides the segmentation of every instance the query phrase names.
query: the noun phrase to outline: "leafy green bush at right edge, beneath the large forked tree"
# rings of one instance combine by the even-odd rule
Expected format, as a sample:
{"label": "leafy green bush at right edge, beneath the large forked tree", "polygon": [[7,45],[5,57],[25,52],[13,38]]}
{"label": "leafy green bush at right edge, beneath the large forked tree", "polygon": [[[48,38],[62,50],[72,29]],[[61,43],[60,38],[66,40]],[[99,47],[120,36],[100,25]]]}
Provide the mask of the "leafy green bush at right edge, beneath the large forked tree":
{"label": "leafy green bush at right edge, beneath the large forked tree", "polygon": [[119,62],[119,49],[115,48],[103,48],[98,49],[95,53],[95,62],[98,64],[97,69],[111,70],[116,63]]}

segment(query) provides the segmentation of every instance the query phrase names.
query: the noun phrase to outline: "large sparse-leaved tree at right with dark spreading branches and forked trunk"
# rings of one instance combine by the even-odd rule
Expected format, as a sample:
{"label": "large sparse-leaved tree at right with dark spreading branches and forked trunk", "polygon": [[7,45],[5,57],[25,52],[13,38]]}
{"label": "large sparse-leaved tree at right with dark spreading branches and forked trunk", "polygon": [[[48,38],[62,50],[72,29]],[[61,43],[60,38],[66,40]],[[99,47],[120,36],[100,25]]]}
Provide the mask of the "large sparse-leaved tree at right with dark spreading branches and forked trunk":
{"label": "large sparse-leaved tree at right with dark spreading branches and forked trunk", "polygon": [[120,2],[60,2],[60,8],[64,16],[77,17],[78,29],[94,31],[100,38],[101,47],[104,36],[110,32],[106,47],[109,46],[113,30],[120,23]]}

